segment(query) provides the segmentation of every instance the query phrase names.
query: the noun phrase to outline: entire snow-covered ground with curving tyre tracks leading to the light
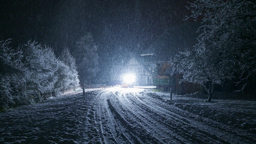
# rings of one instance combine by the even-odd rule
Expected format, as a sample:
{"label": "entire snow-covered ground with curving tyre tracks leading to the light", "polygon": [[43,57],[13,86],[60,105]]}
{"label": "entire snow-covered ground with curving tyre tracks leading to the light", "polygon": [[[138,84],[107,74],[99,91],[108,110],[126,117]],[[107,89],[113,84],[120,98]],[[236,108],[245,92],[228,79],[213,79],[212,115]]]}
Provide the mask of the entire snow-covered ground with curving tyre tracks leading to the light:
{"label": "entire snow-covered ground with curving tyre tracks leading to the light", "polygon": [[256,143],[256,102],[88,89],[0,113],[0,143]]}

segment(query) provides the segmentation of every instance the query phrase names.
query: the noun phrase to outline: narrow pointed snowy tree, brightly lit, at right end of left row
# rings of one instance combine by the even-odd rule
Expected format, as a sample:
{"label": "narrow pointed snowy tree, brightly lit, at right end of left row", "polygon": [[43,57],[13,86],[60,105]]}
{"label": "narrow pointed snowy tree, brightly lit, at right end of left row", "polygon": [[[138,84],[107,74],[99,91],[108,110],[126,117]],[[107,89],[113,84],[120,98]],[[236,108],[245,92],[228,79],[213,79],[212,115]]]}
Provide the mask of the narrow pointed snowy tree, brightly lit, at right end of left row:
{"label": "narrow pointed snowy tree, brightly lit, at right end of left row", "polygon": [[68,86],[76,86],[79,83],[78,71],[76,70],[75,58],[70,54],[67,47],[62,51],[58,61],[58,82],[59,88],[67,88]]}

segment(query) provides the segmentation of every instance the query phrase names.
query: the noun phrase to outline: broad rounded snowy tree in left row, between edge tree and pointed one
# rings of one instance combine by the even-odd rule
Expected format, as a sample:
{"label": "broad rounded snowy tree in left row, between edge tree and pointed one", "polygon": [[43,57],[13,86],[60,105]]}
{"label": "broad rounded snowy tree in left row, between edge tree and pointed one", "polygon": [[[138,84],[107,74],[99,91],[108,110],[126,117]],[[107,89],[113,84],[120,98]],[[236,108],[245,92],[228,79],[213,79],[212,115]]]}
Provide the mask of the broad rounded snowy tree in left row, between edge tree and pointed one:
{"label": "broad rounded snowy tree in left row, between edge tree and pointed one", "polygon": [[24,73],[28,93],[35,94],[53,89],[58,80],[59,64],[53,50],[35,41],[28,41],[28,43],[23,44],[21,49],[26,67]]}

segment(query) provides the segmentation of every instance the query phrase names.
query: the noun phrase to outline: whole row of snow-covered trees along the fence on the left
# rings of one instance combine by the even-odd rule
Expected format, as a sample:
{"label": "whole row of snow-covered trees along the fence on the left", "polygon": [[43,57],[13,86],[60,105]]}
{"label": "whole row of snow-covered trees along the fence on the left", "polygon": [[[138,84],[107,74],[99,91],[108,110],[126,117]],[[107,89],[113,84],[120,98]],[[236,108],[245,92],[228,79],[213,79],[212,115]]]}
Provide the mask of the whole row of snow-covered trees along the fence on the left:
{"label": "whole row of snow-covered trees along the fence on the left", "polygon": [[0,108],[34,103],[44,91],[78,84],[75,59],[67,50],[62,62],[49,46],[29,40],[14,50],[10,43],[0,41]]}

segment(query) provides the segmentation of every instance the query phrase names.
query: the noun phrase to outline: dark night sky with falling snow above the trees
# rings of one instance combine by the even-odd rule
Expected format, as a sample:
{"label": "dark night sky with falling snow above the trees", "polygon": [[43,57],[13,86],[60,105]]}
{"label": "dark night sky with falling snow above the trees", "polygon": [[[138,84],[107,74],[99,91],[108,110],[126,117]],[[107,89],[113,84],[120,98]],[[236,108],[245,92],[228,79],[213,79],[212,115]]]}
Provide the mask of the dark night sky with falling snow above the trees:
{"label": "dark night sky with falling snow above the trees", "polygon": [[191,32],[175,29],[192,21],[184,20],[189,15],[186,5],[184,0],[1,0],[0,38],[12,38],[13,47],[35,40],[51,46],[58,56],[66,46],[72,52],[76,41],[91,32],[98,46],[100,67],[108,73],[111,65],[139,58],[142,53],[155,53],[162,61],[178,47],[184,47],[186,38],[180,35]]}

